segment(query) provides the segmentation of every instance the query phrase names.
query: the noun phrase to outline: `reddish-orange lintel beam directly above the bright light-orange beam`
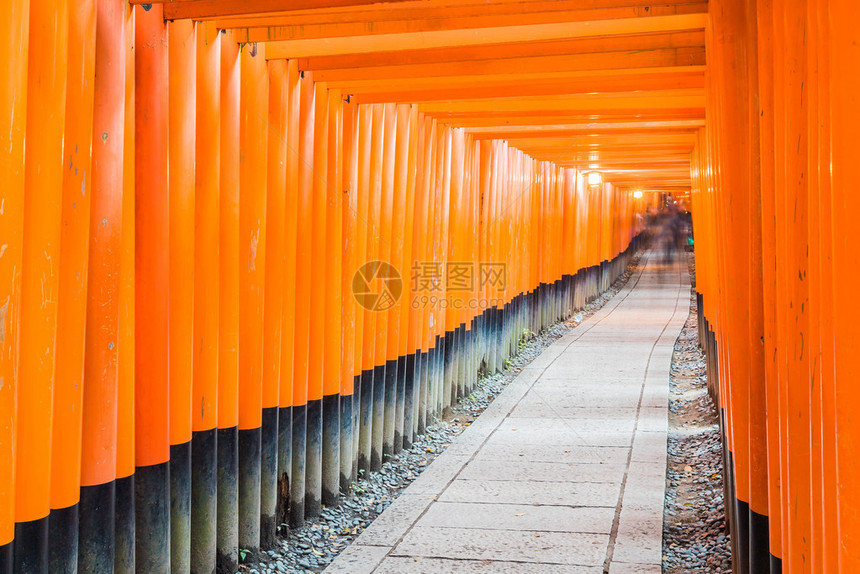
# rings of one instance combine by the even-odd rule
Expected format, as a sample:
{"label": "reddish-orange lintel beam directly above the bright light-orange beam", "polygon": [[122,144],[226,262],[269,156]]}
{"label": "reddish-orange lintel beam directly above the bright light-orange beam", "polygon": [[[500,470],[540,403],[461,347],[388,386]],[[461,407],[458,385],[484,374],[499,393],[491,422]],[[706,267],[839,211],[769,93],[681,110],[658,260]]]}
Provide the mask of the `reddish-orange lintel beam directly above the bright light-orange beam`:
{"label": "reddish-orange lintel beam directly above the bright light-orange beam", "polygon": [[[535,3],[539,4],[539,3]],[[511,6],[511,5],[508,5]],[[513,5],[513,6],[522,6]],[[482,6],[481,8],[486,9]],[[617,8],[602,8],[596,10],[555,10],[551,12],[511,12],[499,15],[477,14],[461,17],[422,18],[413,11],[401,11],[397,20],[383,21],[351,21],[351,22],[318,22],[314,24],[296,24],[290,16],[263,16],[219,20],[218,25],[225,28],[241,28],[237,30],[239,41],[270,42],[276,40],[297,41],[319,38],[343,38],[360,36],[381,36],[391,34],[414,34],[441,32],[447,30],[470,30],[487,28],[505,28],[541,24],[556,24],[562,22],[588,22],[630,18],[659,18],[684,14],[705,14],[707,3],[663,5],[663,6],[624,6]],[[378,14],[378,13],[377,13]]]}

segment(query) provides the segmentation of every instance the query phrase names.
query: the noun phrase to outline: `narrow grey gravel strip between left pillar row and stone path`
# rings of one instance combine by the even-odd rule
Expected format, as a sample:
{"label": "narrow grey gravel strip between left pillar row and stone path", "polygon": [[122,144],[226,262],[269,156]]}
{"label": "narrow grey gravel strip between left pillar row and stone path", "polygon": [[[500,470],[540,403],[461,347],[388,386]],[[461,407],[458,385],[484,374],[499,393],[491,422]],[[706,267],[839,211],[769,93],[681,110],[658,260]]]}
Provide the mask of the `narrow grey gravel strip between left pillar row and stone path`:
{"label": "narrow grey gravel strip between left pillar row and stone path", "polygon": [[349,493],[342,493],[338,506],[324,507],[318,519],[306,521],[304,527],[290,530],[287,536],[279,535],[275,550],[261,551],[257,563],[240,564],[240,572],[271,574],[322,571],[484,412],[523,367],[618,293],[639,265],[639,260],[640,256],[635,256],[627,271],[607,291],[570,320],[558,322],[538,335],[531,333],[520,343],[519,353],[511,357],[504,371],[480,377],[472,393],[461,399],[450,412],[446,412],[444,419],[435,419],[433,424],[428,425],[426,434],[417,435],[409,449],[386,457],[379,472],[360,472]]}

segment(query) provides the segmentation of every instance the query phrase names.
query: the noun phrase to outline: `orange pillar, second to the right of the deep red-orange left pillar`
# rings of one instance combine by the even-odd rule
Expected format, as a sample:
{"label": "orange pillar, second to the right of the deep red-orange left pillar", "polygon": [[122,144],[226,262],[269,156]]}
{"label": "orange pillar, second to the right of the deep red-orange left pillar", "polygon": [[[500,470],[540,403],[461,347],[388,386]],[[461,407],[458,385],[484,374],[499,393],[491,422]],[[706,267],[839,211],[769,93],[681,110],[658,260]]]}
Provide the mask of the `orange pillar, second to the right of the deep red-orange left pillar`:
{"label": "orange pillar, second to the right of the deep red-orange left pillar", "polygon": [[216,568],[218,321],[221,231],[221,33],[197,25],[194,344],[191,386],[191,565]]}

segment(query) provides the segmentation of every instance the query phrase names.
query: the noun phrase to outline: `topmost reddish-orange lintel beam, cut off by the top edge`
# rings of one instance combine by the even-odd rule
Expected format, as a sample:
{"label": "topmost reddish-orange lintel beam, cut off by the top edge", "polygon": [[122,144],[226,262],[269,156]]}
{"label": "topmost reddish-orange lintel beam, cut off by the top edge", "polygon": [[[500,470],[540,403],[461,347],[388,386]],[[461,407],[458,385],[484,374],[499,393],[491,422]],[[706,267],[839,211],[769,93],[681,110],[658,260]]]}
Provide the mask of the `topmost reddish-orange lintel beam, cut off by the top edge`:
{"label": "topmost reddish-orange lintel beam, cut off by the top edge", "polygon": [[[129,0],[132,4],[161,3],[156,0]],[[385,0],[386,3],[403,2],[404,0]],[[218,16],[235,16],[239,14],[258,14],[263,12],[283,11],[284,0],[162,0],[164,3],[165,20],[181,18],[216,18]],[[379,4],[379,0],[290,0],[292,10],[332,8],[339,6],[356,6]]]}

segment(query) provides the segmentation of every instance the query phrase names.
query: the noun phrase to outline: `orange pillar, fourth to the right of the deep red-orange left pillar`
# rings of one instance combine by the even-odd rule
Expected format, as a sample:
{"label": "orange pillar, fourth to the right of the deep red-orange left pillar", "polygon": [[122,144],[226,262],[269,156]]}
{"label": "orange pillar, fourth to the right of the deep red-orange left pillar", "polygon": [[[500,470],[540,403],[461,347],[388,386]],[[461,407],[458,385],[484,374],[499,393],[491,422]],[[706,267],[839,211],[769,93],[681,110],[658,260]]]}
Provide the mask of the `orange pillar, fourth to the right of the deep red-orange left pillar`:
{"label": "orange pillar, fourth to the right of the deep red-orange left pillar", "polygon": [[263,302],[269,82],[263,44],[240,47],[239,101],[239,547],[260,548]]}

